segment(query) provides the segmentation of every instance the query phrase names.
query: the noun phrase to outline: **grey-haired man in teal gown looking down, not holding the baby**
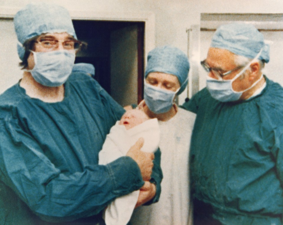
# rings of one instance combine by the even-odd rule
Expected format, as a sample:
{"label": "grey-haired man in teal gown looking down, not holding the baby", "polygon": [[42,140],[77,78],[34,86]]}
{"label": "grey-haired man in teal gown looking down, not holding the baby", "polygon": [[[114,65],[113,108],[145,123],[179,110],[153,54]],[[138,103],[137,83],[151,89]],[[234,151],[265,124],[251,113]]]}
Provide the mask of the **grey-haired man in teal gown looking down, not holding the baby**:
{"label": "grey-haired man in teal gown looking down, not holding the baby", "polygon": [[282,224],[283,88],[262,74],[269,45],[251,24],[220,26],[201,62],[190,175],[194,224]]}

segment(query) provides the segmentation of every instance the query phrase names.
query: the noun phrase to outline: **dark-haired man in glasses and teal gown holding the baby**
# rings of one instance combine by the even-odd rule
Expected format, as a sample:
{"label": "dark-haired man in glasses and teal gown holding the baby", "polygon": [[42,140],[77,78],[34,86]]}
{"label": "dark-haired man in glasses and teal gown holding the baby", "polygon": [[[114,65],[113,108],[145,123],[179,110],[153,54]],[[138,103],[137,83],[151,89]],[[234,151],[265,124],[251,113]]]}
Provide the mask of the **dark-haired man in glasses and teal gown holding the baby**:
{"label": "dark-haired man in glasses and teal gown holding the baby", "polygon": [[125,110],[86,73],[72,73],[82,43],[68,11],[29,4],[14,25],[24,72],[0,96],[0,224],[104,224],[103,209],[140,188],[140,203],[157,201],[160,157],[140,151],[142,139],[98,165]]}

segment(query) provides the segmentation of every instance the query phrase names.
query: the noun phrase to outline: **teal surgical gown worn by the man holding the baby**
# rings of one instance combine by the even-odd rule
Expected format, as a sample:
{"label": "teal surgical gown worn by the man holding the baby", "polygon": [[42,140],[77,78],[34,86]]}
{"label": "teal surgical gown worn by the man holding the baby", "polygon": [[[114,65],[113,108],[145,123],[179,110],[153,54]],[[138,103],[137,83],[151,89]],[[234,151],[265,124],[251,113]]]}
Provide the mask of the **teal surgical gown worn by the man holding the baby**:
{"label": "teal surgical gown worn by the man holding the baby", "polygon": [[[4,92],[0,224],[95,224],[108,203],[141,188],[144,181],[130,157],[98,165],[106,134],[123,113],[86,74],[71,74],[57,103],[30,98],[19,84]],[[160,151],[155,157],[152,179],[159,190]]]}

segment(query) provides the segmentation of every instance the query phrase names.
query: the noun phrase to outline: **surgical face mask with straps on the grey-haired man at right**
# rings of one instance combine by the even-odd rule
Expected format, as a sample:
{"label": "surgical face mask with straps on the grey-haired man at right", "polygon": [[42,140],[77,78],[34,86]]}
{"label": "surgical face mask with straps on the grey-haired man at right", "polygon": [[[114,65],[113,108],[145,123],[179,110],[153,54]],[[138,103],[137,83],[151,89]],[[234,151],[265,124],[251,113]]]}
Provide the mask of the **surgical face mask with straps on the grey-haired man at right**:
{"label": "surgical face mask with straps on the grey-haired man at right", "polygon": [[261,77],[252,84],[251,87],[247,88],[246,90],[243,91],[234,91],[233,87],[232,87],[232,83],[233,81],[235,81],[239,76],[241,76],[248,68],[249,66],[254,63],[256,61],[256,59],[259,57],[259,55],[261,54],[262,49],[260,50],[260,52],[258,53],[258,55],[256,56],[256,58],[254,58],[253,60],[251,60],[251,62],[246,65],[243,70],[241,70],[241,72],[239,72],[233,79],[231,80],[216,80],[213,79],[209,76],[207,76],[206,78],[206,87],[210,93],[210,95],[215,98],[218,101],[222,101],[222,102],[228,102],[228,101],[237,101],[240,99],[240,97],[242,96],[243,92],[251,89],[252,87],[254,87],[262,78],[263,75],[261,75]]}

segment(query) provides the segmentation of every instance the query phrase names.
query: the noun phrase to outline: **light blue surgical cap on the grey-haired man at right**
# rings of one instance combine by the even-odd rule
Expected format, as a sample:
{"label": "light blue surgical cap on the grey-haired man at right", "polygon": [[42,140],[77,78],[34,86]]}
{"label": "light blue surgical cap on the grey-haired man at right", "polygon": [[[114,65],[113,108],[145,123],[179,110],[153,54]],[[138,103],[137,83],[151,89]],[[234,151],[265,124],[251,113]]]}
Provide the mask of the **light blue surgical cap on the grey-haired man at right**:
{"label": "light blue surgical cap on the grey-haired man at right", "polygon": [[210,47],[226,49],[236,55],[255,58],[263,48],[259,60],[269,62],[269,45],[263,35],[251,24],[225,24],[216,30]]}

